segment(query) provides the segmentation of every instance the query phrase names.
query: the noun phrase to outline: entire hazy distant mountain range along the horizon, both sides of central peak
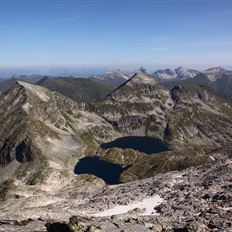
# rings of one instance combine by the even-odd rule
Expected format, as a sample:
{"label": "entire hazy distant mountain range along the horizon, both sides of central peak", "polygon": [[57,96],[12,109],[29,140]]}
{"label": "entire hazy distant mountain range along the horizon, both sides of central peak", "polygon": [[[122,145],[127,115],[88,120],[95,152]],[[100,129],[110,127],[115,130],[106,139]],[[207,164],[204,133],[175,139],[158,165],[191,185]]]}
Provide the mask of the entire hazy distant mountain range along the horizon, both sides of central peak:
{"label": "entire hazy distant mountain range along the horizon, both sides of central peak", "polygon": [[[142,70],[143,72],[141,70],[139,72],[146,71],[144,68]],[[102,101],[114,88],[128,81],[133,74],[118,70],[89,78],[13,75],[9,79],[0,79],[0,91],[13,86],[17,81],[24,81],[44,86],[77,102],[92,103]],[[232,71],[223,68],[215,67],[200,72],[179,67],[157,70],[151,76],[169,89],[176,85],[195,84],[205,86],[221,96],[232,99]]]}

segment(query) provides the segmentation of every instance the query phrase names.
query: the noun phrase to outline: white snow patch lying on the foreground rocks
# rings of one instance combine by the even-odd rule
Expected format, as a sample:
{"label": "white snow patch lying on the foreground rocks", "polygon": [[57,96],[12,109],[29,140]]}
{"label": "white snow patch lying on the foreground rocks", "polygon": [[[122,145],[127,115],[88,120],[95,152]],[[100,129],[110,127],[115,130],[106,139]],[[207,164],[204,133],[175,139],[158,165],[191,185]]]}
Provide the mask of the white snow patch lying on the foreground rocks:
{"label": "white snow patch lying on the foreground rocks", "polygon": [[140,202],[134,202],[134,203],[131,203],[128,205],[115,206],[112,209],[108,209],[106,211],[93,214],[93,216],[95,216],[95,217],[109,217],[109,216],[113,216],[113,215],[125,214],[125,213],[128,213],[129,211],[134,210],[134,209],[145,209],[144,213],[138,213],[138,215],[141,215],[141,216],[153,215],[153,216],[155,216],[155,215],[158,215],[158,213],[156,212],[156,210],[154,210],[154,207],[158,206],[162,202],[163,202],[163,199],[160,196],[155,195],[151,198],[145,198]]}

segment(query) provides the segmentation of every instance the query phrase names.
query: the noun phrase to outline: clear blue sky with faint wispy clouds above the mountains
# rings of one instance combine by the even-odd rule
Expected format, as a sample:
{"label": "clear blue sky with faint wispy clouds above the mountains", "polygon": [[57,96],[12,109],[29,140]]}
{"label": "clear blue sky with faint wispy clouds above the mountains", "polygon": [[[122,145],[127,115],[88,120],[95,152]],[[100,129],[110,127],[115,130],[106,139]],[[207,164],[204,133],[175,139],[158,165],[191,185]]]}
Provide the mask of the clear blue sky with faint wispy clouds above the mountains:
{"label": "clear blue sky with faint wispy clouds above the mountains", "polygon": [[0,67],[232,65],[232,0],[0,0]]}

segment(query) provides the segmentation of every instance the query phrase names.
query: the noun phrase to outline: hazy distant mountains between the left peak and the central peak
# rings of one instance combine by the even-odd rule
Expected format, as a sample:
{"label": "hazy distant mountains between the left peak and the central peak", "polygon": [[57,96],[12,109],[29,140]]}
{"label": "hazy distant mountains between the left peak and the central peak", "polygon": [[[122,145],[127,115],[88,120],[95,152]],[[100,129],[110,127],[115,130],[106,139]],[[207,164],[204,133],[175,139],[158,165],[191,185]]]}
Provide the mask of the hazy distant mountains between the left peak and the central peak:
{"label": "hazy distant mountains between the left peak and the central peak", "polygon": [[93,103],[102,101],[114,88],[129,77],[129,73],[120,71],[107,72],[90,78],[14,75],[9,79],[0,80],[0,91],[14,86],[18,81],[24,81],[59,92],[76,102]]}

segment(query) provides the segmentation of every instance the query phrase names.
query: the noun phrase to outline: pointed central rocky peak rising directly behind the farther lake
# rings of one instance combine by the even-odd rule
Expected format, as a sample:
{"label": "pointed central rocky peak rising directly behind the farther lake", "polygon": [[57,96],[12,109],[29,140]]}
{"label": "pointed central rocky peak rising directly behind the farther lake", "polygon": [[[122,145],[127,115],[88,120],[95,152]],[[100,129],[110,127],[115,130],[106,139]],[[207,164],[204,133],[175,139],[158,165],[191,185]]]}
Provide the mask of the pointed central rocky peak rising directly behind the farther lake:
{"label": "pointed central rocky peak rising directly behind the farther lake", "polygon": [[173,104],[167,89],[152,77],[137,73],[99,103],[95,111],[122,134],[160,138]]}

